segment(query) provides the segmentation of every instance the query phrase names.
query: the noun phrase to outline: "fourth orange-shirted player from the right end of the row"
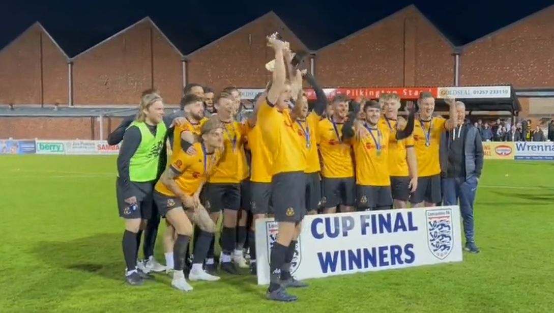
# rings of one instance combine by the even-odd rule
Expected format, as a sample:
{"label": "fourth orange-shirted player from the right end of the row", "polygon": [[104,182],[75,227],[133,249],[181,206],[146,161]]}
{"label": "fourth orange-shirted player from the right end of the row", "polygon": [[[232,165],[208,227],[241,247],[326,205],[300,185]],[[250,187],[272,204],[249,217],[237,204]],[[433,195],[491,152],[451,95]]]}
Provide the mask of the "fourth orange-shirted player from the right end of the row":
{"label": "fourth orange-shirted player from the right end of the row", "polygon": [[338,94],[332,101],[332,115],[317,125],[317,144],[322,158],[324,213],[352,212],[356,201],[356,180],[350,140],[343,140],[342,127],[348,117],[348,99]]}

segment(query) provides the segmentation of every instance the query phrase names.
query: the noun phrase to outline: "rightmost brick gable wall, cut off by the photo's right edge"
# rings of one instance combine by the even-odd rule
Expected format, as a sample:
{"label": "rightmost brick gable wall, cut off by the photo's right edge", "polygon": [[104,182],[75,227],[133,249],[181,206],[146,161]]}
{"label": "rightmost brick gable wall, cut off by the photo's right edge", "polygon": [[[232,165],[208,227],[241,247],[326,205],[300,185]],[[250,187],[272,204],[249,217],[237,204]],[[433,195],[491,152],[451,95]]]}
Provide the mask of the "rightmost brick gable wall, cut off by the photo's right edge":
{"label": "rightmost brick gable wall, cut off by the photo's right edge", "polygon": [[554,88],[554,6],[463,47],[460,84]]}

